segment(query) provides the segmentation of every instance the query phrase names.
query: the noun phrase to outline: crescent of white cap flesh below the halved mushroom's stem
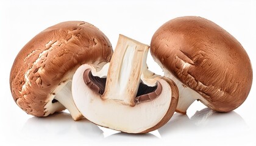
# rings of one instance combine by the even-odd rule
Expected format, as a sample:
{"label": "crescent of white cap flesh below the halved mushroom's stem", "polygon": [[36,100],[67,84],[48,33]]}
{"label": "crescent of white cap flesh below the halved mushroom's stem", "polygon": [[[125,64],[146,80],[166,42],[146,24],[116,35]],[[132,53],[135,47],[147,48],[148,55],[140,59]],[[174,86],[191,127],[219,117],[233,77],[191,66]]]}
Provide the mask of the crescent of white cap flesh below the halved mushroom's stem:
{"label": "crescent of white cap flesh below the halved mushroom's stem", "polygon": [[[91,122],[126,133],[140,133],[157,125],[166,115],[171,103],[171,88],[164,80],[158,80],[165,87],[162,94],[150,102],[135,106],[123,105],[116,100],[102,100],[84,83],[84,71],[91,66],[82,65],[73,77],[74,102],[80,112]],[[113,89],[118,91],[118,89]]]}

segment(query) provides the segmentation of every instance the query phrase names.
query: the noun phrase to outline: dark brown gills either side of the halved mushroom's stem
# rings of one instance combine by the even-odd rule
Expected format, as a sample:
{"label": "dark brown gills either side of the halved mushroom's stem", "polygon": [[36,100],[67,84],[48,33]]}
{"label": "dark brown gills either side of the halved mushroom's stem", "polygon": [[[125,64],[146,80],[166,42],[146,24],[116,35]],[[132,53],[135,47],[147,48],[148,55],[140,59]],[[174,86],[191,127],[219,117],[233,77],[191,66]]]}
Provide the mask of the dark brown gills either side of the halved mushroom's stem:
{"label": "dark brown gills either side of the halved mushroom's stem", "polygon": [[[84,72],[84,82],[91,90],[98,94],[103,94],[105,91],[107,78],[101,78],[94,76],[91,73],[91,69],[87,69]],[[138,87],[138,92],[135,97],[135,103],[146,102],[149,100],[153,100],[157,98],[162,92],[162,86],[159,82],[157,82],[156,86],[148,86],[143,82],[140,82]],[[54,100],[52,100],[54,103]],[[57,102],[57,100],[55,101]]]}

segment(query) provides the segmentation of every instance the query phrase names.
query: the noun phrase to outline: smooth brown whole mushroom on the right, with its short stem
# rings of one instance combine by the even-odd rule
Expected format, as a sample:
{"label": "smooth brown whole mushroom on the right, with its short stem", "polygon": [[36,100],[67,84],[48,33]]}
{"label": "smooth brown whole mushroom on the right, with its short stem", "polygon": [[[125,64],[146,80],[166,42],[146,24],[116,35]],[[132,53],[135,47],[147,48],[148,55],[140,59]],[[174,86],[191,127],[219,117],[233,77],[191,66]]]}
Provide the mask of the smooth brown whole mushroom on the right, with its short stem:
{"label": "smooth brown whole mushroom on the right, with its short stem", "polygon": [[252,66],[241,44],[217,24],[184,16],[163,24],[152,36],[151,55],[179,88],[176,111],[194,100],[219,112],[238,108],[252,85]]}

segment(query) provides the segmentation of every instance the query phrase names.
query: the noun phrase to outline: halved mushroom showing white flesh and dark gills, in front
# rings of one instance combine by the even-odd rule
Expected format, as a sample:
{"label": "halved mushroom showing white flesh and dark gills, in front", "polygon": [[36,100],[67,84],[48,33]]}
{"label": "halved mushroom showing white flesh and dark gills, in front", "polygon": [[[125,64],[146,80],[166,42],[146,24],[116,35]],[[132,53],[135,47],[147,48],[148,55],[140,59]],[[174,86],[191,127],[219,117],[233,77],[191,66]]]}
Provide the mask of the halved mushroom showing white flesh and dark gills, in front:
{"label": "halved mushroom showing white flesh and dark gills, in front", "polygon": [[148,70],[148,50],[120,35],[110,63],[77,69],[72,94],[84,117],[126,133],[147,133],[168,122],[177,106],[177,86]]}

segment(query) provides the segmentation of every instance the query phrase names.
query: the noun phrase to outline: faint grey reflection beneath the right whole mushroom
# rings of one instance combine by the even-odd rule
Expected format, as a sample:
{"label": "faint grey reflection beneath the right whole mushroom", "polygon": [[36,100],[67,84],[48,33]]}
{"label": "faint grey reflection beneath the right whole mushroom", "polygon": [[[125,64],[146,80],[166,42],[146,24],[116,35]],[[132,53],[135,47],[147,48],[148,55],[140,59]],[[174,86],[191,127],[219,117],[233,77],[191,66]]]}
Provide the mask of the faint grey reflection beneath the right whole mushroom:
{"label": "faint grey reflection beneath the right whole mushroom", "polygon": [[186,114],[176,113],[171,117],[171,120],[166,123],[158,131],[161,136],[166,134],[171,134],[172,131],[186,131],[186,133],[194,133],[194,131],[203,131],[210,133],[219,133],[221,131],[238,131],[246,130],[247,125],[244,122],[243,118],[231,111],[229,113],[218,113],[212,111],[210,108],[204,108],[201,111],[196,111],[196,113],[189,118]]}

